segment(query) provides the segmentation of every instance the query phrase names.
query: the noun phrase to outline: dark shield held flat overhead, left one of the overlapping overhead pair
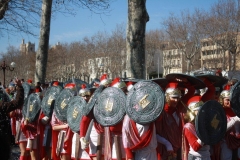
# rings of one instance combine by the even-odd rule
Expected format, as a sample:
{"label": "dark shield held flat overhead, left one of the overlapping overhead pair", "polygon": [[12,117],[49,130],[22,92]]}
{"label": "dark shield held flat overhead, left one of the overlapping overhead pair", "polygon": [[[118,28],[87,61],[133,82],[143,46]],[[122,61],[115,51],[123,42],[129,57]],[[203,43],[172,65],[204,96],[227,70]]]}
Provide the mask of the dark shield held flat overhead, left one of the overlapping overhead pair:
{"label": "dark shield held flat overhead, left one of the overlapping overhead pair", "polygon": [[170,82],[179,83],[180,87],[186,87],[186,83],[190,83],[195,89],[202,89],[206,87],[202,80],[187,74],[171,73],[166,75],[166,79]]}

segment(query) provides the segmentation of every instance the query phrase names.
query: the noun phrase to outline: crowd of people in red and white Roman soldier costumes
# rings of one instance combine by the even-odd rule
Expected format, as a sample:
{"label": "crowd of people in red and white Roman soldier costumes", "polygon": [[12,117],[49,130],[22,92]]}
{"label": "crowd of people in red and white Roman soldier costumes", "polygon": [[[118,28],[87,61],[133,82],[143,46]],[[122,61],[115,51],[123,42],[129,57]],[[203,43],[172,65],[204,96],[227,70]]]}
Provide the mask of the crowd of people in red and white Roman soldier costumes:
{"label": "crowd of people in red and white Roman soldier costumes", "polygon": [[[214,76],[221,76],[221,73],[217,74]],[[96,96],[95,91],[99,87],[102,87],[100,93],[109,87],[118,88],[127,97],[134,92],[135,83],[140,81],[124,81],[119,77],[111,80],[103,74],[92,88],[82,84],[78,89],[77,83],[71,82],[65,84],[62,90],[70,90],[74,97],[79,96],[88,104],[96,98],[93,96]],[[67,121],[60,120],[56,106],[50,116],[40,110],[37,118],[31,121],[22,113],[23,106],[28,105],[24,83],[30,86],[28,96],[37,94],[42,100],[49,88],[61,88],[58,81],[49,85],[39,82],[33,85],[32,80],[13,80],[7,88],[1,89],[0,156],[9,159],[13,135],[21,151],[20,160],[240,160],[240,119],[230,103],[230,89],[238,84],[237,79],[216,86],[212,79],[202,77],[205,86],[201,91],[191,81],[181,81],[181,85],[177,81],[166,81],[166,85],[156,83],[165,96],[161,114],[154,121],[138,123],[131,119],[131,115],[125,114],[117,124],[105,126],[96,120],[93,111],[95,102],[93,108],[81,117],[79,131],[76,132],[71,130]],[[221,104],[227,119],[226,133],[214,145],[204,144],[195,126],[199,109],[209,100]],[[52,102],[52,99],[49,100],[49,103]],[[63,109],[65,106],[62,102],[60,107]],[[111,111],[109,106],[106,104]],[[31,106],[27,108],[29,112]]]}

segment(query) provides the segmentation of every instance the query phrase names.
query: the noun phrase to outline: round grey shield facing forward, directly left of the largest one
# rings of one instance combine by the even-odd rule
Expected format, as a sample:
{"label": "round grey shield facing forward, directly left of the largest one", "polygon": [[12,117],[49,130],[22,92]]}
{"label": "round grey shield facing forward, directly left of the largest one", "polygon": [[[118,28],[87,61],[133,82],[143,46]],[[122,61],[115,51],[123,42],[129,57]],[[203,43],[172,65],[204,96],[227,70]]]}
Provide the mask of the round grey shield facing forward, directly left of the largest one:
{"label": "round grey shield facing forward, directly left of the largest one", "polygon": [[108,87],[98,96],[94,117],[102,126],[113,126],[125,115],[126,95],[119,88]]}

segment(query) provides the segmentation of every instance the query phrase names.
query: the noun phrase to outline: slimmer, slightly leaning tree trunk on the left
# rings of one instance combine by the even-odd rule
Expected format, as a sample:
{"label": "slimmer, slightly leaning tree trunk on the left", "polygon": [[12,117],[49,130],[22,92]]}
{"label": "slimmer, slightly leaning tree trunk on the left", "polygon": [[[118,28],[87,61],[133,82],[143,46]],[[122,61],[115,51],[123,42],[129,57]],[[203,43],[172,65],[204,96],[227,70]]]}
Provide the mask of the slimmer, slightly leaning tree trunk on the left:
{"label": "slimmer, slightly leaning tree trunk on the left", "polygon": [[40,26],[39,45],[36,54],[35,82],[45,83],[48,60],[51,13],[52,13],[52,0],[42,0],[42,17]]}

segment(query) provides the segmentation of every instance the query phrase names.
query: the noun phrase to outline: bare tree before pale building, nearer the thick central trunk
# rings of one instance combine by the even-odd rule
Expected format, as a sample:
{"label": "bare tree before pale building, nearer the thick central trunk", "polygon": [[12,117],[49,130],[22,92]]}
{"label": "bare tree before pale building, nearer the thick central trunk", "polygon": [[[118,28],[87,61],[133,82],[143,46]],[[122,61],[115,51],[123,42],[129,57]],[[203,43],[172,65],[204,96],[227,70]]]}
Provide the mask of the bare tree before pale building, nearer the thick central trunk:
{"label": "bare tree before pale building, nearer the thick central trunk", "polygon": [[184,11],[179,17],[172,14],[163,22],[171,43],[182,52],[187,62],[188,73],[190,73],[191,65],[194,64],[194,57],[199,56],[201,51],[202,34],[199,28],[201,18],[199,10],[196,10],[193,15]]}

